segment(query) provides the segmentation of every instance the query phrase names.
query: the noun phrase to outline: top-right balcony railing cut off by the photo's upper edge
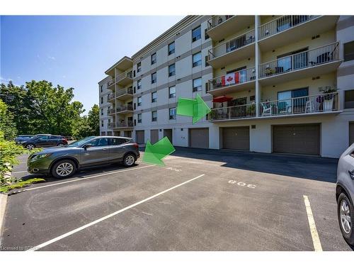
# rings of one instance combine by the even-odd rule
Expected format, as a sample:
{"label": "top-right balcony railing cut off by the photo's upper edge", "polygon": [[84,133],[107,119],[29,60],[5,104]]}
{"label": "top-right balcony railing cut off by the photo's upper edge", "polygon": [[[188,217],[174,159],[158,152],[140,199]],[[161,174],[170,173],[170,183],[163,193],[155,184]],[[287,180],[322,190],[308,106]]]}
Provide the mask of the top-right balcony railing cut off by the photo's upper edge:
{"label": "top-right balcony railing cut off by the photo's upper edge", "polygon": [[258,38],[262,40],[318,17],[319,16],[280,16],[280,18],[275,18],[273,21],[259,26]]}

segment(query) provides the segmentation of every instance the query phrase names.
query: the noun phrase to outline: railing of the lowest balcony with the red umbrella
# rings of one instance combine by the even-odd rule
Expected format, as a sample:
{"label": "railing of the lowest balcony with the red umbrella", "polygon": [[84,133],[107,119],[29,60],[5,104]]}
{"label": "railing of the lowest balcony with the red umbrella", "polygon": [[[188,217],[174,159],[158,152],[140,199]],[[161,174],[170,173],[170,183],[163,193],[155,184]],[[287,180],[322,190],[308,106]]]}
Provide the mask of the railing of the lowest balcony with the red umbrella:
{"label": "railing of the lowest balcony with the red umbrella", "polygon": [[256,104],[253,103],[212,109],[209,114],[209,119],[215,121],[226,119],[252,118],[255,116]]}

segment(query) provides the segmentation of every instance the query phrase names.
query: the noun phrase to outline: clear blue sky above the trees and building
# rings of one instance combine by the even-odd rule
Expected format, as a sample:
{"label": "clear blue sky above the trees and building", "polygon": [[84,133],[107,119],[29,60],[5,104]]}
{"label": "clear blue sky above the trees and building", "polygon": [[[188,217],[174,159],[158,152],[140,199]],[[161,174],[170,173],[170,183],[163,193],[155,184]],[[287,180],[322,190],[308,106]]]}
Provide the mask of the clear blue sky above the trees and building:
{"label": "clear blue sky above the trees and building", "polygon": [[87,111],[105,70],[183,16],[1,16],[0,82],[32,79],[74,87]]}

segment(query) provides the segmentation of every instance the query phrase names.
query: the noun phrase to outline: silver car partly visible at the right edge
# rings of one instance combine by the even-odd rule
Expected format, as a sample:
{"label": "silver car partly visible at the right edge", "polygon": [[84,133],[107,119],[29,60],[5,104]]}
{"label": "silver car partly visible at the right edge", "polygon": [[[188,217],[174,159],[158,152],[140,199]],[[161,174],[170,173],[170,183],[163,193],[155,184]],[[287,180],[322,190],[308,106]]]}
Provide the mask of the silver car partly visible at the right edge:
{"label": "silver car partly visible at the right edge", "polygon": [[344,239],[354,245],[354,144],[338,161],[336,199],[339,227]]}

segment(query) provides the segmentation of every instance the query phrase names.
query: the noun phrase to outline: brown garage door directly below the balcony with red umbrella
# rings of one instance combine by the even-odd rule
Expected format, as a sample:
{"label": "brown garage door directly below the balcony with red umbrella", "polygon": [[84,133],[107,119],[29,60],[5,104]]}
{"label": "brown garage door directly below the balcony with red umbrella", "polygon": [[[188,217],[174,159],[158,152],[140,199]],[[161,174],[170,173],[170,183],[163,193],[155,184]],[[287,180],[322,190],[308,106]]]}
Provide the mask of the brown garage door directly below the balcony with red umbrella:
{"label": "brown garage door directly below the balcony with red umbrella", "polygon": [[249,150],[249,126],[222,128],[222,148]]}

